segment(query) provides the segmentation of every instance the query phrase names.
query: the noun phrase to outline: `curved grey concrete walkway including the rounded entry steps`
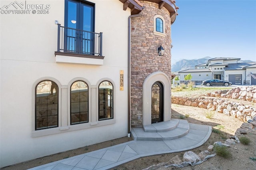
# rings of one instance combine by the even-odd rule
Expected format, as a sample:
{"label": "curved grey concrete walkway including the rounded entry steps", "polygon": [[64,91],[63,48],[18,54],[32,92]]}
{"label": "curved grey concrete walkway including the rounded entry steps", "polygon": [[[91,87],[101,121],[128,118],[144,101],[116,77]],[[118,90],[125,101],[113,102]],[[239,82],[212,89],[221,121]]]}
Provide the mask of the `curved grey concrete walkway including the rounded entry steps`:
{"label": "curved grey concrete walkway including the rounded entry steps", "polygon": [[144,128],[132,128],[133,141],[73,156],[30,170],[106,170],[157,154],[182,152],[201,146],[212,128],[172,119]]}

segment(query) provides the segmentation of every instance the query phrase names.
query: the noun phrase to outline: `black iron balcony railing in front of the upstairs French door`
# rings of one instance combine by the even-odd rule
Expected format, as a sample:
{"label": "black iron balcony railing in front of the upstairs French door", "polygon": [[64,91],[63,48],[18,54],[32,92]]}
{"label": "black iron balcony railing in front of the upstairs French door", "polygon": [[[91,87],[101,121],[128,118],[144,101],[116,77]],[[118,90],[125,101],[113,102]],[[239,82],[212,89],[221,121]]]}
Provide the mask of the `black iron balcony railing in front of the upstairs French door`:
{"label": "black iron balcony railing in front of the upstairs French door", "polygon": [[58,24],[57,51],[102,56],[102,32],[88,32]]}

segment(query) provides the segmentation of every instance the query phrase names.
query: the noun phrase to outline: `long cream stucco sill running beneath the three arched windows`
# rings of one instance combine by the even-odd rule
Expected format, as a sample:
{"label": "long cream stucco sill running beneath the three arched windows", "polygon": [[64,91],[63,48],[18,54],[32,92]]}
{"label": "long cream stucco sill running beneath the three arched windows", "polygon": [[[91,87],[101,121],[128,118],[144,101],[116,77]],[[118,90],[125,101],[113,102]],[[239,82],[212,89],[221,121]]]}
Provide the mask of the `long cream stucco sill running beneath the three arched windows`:
{"label": "long cream stucco sill running beneath the three arched windows", "polygon": [[46,136],[50,134],[58,134],[63,132],[70,132],[74,130],[82,130],[86,128],[94,128],[94,127],[101,127],[105,125],[111,125],[116,123],[116,119],[108,119],[105,121],[97,121],[97,122],[89,122],[89,123],[82,123],[77,125],[69,125],[67,127],[56,127],[56,128],[48,128],[48,129],[42,129],[42,130],[34,130],[32,131],[31,136],[39,137],[39,136]]}

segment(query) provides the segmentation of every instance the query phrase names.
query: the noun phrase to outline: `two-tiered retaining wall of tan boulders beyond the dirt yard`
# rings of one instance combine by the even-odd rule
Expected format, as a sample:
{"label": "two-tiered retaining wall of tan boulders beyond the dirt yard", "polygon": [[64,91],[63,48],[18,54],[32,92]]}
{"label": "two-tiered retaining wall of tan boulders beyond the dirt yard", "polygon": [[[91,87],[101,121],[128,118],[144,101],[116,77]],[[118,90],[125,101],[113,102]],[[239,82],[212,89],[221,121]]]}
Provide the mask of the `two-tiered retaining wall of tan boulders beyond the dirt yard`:
{"label": "two-tiered retaining wall of tan boulders beyond the dirt yard", "polygon": [[256,102],[256,86],[254,87],[239,87],[230,90],[220,90],[213,93],[208,93],[207,97],[175,97],[172,96],[172,103],[178,105],[186,105],[193,107],[200,107],[210,111],[217,111],[225,115],[231,115],[238,118],[240,121],[248,121],[256,119],[256,108],[243,105],[233,101],[225,101],[221,98],[226,97],[232,99],[242,99]]}

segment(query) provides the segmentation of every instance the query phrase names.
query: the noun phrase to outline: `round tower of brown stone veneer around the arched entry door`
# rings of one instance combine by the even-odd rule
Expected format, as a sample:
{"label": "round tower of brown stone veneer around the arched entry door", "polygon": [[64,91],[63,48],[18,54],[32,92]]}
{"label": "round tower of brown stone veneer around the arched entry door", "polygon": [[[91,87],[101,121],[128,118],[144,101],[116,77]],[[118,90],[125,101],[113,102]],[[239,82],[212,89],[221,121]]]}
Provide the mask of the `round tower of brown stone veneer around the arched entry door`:
{"label": "round tower of brown stone veneer around the arched entry door", "polygon": [[[164,95],[161,121],[171,118],[171,24],[178,7],[175,1],[167,0],[173,5],[167,8],[166,0],[158,1],[140,0],[144,9],[131,18],[131,127],[152,123],[152,86],[156,82],[162,84]],[[171,7],[175,13],[170,13]],[[156,31],[156,18],[163,21],[163,33]],[[165,49],[162,56],[157,52],[160,44]]]}

